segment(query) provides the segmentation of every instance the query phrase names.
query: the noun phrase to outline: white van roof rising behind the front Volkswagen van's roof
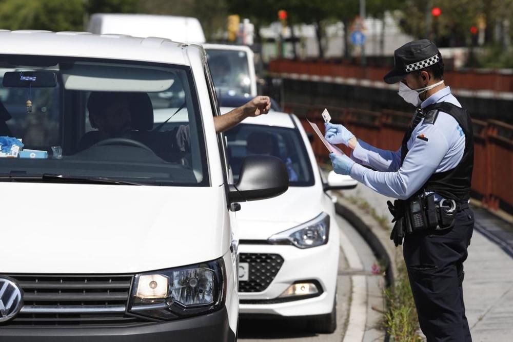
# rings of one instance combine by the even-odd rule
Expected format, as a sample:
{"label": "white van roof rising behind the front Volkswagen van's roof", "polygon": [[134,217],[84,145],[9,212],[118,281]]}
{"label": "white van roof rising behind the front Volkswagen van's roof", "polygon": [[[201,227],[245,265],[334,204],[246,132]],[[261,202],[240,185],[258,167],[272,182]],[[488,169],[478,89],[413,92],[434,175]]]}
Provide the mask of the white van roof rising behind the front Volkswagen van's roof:
{"label": "white van roof rising behind the front Volkswagen van's roof", "polygon": [[95,13],[91,16],[87,31],[95,34],[162,37],[182,43],[205,43],[200,21],[186,16]]}

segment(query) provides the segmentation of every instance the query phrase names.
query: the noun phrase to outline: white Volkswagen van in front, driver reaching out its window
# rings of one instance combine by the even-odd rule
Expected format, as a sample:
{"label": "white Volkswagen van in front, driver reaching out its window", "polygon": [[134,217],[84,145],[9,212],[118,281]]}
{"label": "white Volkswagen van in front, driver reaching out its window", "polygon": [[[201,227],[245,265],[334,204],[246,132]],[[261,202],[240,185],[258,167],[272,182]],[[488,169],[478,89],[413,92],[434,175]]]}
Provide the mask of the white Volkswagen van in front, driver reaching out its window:
{"label": "white Volkswagen van in front, driver reaching out its window", "polygon": [[[234,211],[288,178],[280,159],[253,156],[231,181],[204,49],[76,32],[0,40],[0,94],[18,107],[0,126],[1,150],[16,150],[0,153],[0,341],[235,340]],[[182,122],[155,127],[164,109]]]}

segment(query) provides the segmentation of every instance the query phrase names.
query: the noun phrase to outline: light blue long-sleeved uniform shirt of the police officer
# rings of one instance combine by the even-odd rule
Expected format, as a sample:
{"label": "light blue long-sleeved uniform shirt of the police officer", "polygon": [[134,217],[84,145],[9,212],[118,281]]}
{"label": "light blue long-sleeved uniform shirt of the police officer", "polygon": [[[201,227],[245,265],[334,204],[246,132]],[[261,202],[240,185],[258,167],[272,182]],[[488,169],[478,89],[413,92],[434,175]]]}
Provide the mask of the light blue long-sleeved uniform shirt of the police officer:
{"label": "light blue long-sleeved uniform shirt of the police officer", "polygon": [[[439,102],[461,108],[449,87],[429,96],[421,107]],[[417,137],[421,134],[428,139],[427,142]],[[351,154],[351,158],[357,162],[351,168],[351,177],[382,195],[407,199],[433,173],[451,170],[460,163],[465,150],[465,134],[455,118],[440,111],[435,124],[424,124],[424,119],[421,120],[411,133],[407,146],[408,153],[401,166],[401,148],[397,151],[381,150],[359,139]]]}

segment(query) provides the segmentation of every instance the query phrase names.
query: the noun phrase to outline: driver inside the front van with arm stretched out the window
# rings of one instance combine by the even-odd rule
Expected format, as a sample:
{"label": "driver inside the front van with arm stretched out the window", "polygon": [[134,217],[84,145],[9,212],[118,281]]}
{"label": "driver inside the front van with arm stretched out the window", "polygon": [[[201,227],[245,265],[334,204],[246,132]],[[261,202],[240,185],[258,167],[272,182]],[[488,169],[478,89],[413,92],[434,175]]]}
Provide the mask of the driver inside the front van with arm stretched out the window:
{"label": "driver inside the front van with arm stretched out the window", "polygon": [[[226,114],[214,116],[215,131],[217,133],[224,132],[239,124],[246,117],[267,114],[270,106],[271,102],[268,96],[257,96],[245,105],[234,108]],[[142,108],[135,109],[134,107]],[[145,93],[92,92],[87,101],[87,109],[91,126],[97,131],[88,132],[82,137],[78,144],[78,151],[83,151],[102,140],[111,138],[133,139],[148,145],[153,150],[159,150],[154,146],[161,140],[157,137],[158,134],[164,134],[167,143],[171,140],[172,146],[167,146],[167,149],[172,149],[175,152],[185,152],[189,149],[188,125],[182,125],[168,132],[151,132],[153,113],[149,113],[151,114],[149,127],[146,118],[137,116],[147,114],[140,112],[153,110],[151,100]],[[171,135],[170,139],[169,134]]]}

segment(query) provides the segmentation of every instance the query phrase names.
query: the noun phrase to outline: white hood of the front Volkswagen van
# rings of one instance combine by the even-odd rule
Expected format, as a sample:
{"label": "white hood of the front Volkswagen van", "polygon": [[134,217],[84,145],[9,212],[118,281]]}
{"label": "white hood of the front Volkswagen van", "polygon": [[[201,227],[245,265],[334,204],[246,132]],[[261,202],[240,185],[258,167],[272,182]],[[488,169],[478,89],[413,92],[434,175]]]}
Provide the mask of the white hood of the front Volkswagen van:
{"label": "white hood of the front Volkswagen van", "polygon": [[231,240],[222,187],[0,183],[0,193],[0,273],[136,273],[219,258]]}

